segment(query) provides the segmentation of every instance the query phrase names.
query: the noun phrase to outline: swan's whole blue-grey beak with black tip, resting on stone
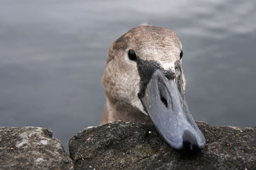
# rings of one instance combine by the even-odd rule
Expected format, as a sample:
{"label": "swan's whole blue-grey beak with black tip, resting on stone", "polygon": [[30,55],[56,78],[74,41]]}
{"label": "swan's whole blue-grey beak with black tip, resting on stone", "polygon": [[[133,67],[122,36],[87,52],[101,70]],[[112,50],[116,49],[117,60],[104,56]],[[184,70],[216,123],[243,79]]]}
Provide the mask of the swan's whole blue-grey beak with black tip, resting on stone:
{"label": "swan's whole blue-grey beak with black tip, resting on stone", "polygon": [[157,131],[172,148],[204,148],[204,135],[189,113],[182,87],[175,79],[169,80],[161,69],[156,69],[140,100]]}

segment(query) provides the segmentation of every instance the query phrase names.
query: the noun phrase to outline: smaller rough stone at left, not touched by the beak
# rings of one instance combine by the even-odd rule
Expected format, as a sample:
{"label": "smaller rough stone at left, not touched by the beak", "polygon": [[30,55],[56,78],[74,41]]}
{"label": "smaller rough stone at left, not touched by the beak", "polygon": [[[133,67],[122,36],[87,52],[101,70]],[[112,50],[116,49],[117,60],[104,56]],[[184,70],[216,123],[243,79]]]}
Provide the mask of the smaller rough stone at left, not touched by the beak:
{"label": "smaller rough stone at left, not touched by the beak", "polygon": [[0,127],[0,169],[74,169],[60,141],[42,127]]}

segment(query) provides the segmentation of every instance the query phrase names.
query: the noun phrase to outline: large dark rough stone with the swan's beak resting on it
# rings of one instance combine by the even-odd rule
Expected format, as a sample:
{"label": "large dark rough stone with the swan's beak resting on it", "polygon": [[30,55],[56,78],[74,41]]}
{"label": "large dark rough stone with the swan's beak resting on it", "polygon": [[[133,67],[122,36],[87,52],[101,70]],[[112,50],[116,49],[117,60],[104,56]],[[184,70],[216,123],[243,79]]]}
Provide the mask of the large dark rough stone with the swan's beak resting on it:
{"label": "large dark rough stone with the swan's beak resting on it", "polygon": [[75,169],[256,169],[256,129],[197,122],[207,139],[196,154],[173,150],[152,125],[114,122],[69,141]]}

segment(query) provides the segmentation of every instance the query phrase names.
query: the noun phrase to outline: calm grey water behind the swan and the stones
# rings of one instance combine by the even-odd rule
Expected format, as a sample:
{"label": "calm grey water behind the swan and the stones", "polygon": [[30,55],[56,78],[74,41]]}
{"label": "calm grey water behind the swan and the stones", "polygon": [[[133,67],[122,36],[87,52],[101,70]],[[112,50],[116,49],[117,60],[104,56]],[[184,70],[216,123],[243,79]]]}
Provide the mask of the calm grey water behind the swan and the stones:
{"label": "calm grey water behind the swan and the stones", "polygon": [[196,120],[256,126],[256,1],[1,1],[0,126],[68,139],[102,117],[108,47],[142,22],[184,46]]}

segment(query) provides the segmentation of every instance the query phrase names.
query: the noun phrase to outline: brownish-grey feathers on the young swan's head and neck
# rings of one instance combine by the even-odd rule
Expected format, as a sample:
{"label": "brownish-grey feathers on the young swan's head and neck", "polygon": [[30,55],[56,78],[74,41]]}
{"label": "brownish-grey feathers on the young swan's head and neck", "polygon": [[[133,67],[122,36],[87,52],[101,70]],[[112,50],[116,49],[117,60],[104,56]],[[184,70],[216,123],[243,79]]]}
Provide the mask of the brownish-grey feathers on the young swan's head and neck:
{"label": "brownish-grey feathers on the young swan's head and neck", "polygon": [[[127,57],[129,49],[133,49],[141,59],[157,60],[164,69],[173,69],[174,62],[181,62],[182,45],[177,34],[170,29],[143,25],[116,39],[109,48],[102,78],[107,102],[101,124],[115,120],[151,124],[137,95],[140,76],[136,64]],[[185,88],[183,73],[182,78]]]}

